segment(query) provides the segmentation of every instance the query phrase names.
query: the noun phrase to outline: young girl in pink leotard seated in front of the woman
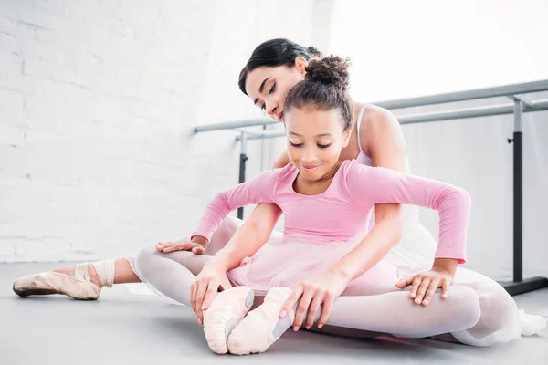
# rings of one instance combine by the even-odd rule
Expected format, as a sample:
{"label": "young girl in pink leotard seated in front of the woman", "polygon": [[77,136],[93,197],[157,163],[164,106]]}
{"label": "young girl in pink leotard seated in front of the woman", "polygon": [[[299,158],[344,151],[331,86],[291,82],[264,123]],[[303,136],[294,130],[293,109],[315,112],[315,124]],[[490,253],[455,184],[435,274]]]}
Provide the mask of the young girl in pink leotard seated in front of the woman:
{"label": "young girl in pink leotard seated in front of the woman", "polygon": [[[390,329],[392,334],[410,337],[450,332],[475,345],[486,345],[475,339],[475,332],[502,329],[508,334],[504,340],[519,337],[520,316],[508,295],[496,305],[482,306],[489,293],[457,285],[448,297],[444,285],[441,295],[429,293],[428,316],[416,316],[421,308],[412,304],[394,310],[391,299],[397,296],[390,295],[401,296],[402,292],[360,296],[361,288],[394,286],[409,273],[405,262],[391,256],[364,270],[364,249],[370,240],[364,235],[363,222],[374,204],[405,203],[436,209],[440,216],[436,258],[457,265],[466,260],[470,198],[447,183],[355,161],[341,162],[342,148],[348,145],[353,128],[347,88],[346,61],[340,57],[311,61],[306,79],[290,90],[285,101],[291,163],[262,172],[217,194],[209,203],[193,237],[209,240],[229,212],[247,204],[275,203],[285,216],[279,245],[265,245],[258,252],[253,252],[251,245],[242,245],[216,255],[216,265],[227,268],[230,284],[224,287],[235,287],[217,295],[209,308],[205,303],[205,337],[210,348],[234,354],[268,349],[291,324],[300,326],[304,318],[296,318],[299,314],[293,304],[297,302],[308,312],[307,328],[317,322],[318,328],[332,324]],[[137,258],[137,265],[150,266],[146,271],[152,277],[153,261],[144,253]],[[193,284],[187,304],[195,306],[197,297],[204,295],[197,287]],[[264,303],[248,313],[255,294],[266,294]],[[542,327],[542,318],[538,322]]]}

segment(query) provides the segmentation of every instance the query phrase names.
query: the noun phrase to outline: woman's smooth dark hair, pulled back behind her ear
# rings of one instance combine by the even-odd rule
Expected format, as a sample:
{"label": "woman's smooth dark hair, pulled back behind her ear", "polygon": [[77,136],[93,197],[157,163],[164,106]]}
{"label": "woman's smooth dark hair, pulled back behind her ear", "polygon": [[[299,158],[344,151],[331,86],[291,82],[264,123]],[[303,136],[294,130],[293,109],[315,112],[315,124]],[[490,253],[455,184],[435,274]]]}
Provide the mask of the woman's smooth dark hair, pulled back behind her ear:
{"label": "woman's smooth dark hair, pulled back behind her ear", "polygon": [[237,81],[240,90],[248,95],[246,92],[246,78],[248,77],[248,72],[263,66],[273,68],[285,66],[287,68],[292,68],[295,66],[295,58],[297,57],[303,57],[307,61],[310,61],[313,58],[321,58],[322,55],[315,47],[302,47],[285,38],[270,39],[261,43],[255,48],[251,57],[249,57],[246,67],[242,68],[240,72]]}

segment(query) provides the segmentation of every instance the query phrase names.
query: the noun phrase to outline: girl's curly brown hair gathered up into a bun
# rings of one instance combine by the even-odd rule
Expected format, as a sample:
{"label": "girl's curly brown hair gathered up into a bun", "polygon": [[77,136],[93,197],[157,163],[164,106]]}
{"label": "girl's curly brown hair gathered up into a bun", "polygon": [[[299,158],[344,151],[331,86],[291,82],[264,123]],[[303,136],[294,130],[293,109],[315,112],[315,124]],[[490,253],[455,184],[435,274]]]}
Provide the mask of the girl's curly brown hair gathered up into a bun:
{"label": "girl's curly brown hair gathered up into a bun", "polygon": [[348,67],[349,60],[338,56],[311,60],[304,80],[290,89],[284,111],[287,113],[291,108],[336,109],[341,112],[342,130],[348,130],[353,123]]}

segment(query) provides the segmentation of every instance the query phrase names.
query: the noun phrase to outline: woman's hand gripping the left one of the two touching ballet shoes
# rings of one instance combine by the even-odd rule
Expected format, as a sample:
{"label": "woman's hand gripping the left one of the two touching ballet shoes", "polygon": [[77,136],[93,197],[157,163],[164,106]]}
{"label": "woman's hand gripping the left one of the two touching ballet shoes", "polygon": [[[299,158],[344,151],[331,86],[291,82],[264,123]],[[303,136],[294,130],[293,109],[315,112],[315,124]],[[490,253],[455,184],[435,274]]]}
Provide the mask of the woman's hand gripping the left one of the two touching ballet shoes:
{"label": "woman's hand gripping the left one of the two touching ballet shoes", "polygon": [[211,306],[216,293],[231,287],[225,270],[215,264],[205,264],[190,286],[190,304],[198,317],[199,324],[204,323],[204,310]]}

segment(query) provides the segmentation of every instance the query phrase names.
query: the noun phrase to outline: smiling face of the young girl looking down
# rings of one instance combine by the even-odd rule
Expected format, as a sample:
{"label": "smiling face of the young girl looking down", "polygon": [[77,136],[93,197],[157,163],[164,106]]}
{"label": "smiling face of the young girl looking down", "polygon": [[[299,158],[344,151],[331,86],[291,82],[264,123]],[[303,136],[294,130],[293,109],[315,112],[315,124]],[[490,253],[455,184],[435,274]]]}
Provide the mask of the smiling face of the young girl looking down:
{"label": "smiling face of the young girl looking down", "polygon": [[352,134],[352,127],[342,131],[339,110],[292,108],[285,116],[285,127],[290,162],[309,181],[332,175]]}

